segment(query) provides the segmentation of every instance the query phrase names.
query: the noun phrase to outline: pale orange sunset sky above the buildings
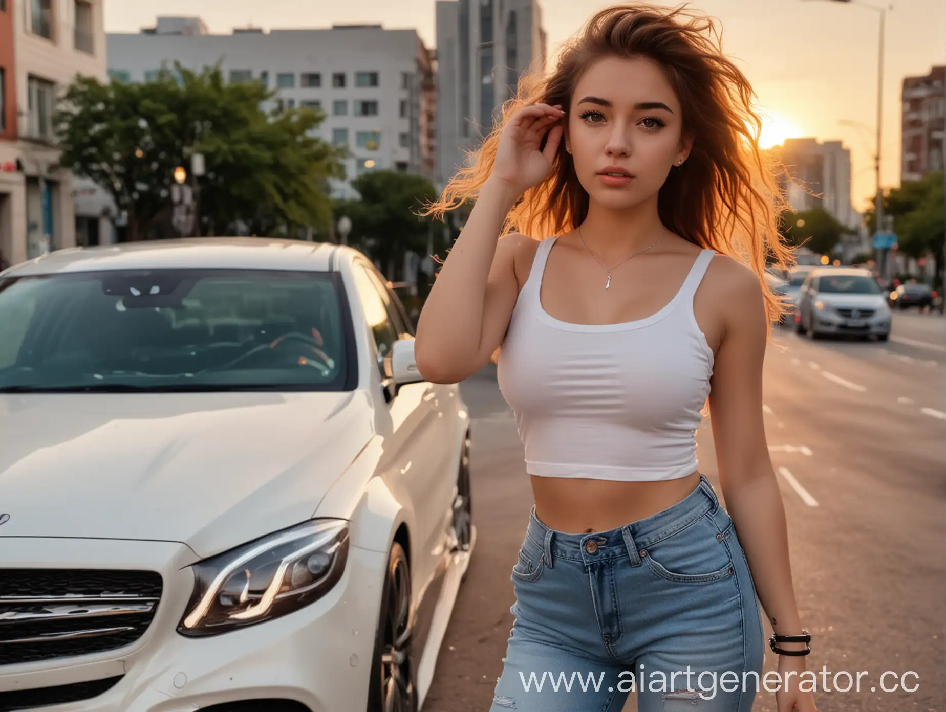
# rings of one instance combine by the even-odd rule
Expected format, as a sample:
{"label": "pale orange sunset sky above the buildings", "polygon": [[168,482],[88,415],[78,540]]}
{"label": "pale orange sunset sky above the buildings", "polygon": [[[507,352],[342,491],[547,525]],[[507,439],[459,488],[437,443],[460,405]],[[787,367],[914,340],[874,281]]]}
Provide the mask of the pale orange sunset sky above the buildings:
{"label": "pale orange sunset sky above the buildings", "polygon": [[[864,0],[882,5],[883,0]],[[574,32],[600,0],[540,0],[550,49]],[[660,2],[675,6],[675,2]],[[798,135],[841,139],[851,149],[852,201],[863,209],[874,191],[879,13],[826,0],[696,0],[720,20],[724,50],[753,82],[759,104]],[[946,2],[895,0],[887,12],[884,82],[885,186],[900,182],[902,78],[946,63]],[[433,0],[134,0],[105,4],[110,32],[153,26],[158,14],[200,15],[214,32],[254,24],[266,28],[377,23],[416,27],[434,45]],[[854,121],[863,127],[844,125]],[[776,135],[780,133],[777,129]]]}

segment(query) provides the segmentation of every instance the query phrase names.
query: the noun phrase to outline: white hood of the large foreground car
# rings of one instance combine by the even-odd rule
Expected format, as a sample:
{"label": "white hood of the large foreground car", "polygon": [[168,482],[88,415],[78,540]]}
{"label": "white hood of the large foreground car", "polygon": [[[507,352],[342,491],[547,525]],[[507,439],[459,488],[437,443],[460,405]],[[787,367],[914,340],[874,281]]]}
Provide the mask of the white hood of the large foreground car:
{"label": "white hood of the large foreground car", "polygon": [[0,536],[208,556],[310,517],[372,432],[361,391],[0,395]]}

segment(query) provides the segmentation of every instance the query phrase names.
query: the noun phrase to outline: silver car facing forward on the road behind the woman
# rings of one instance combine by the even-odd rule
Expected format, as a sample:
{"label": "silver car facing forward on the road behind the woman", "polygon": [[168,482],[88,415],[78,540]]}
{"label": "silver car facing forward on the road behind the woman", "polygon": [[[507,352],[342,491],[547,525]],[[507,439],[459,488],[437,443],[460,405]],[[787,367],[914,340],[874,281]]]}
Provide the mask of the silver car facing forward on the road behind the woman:
{"label": "silver car facing forward on the road behind the woman", "polygon": [[890,308],[867,269],[816,268],[801,286],[796,331],[811,333],[813,339],[847,334],[885,341]]}

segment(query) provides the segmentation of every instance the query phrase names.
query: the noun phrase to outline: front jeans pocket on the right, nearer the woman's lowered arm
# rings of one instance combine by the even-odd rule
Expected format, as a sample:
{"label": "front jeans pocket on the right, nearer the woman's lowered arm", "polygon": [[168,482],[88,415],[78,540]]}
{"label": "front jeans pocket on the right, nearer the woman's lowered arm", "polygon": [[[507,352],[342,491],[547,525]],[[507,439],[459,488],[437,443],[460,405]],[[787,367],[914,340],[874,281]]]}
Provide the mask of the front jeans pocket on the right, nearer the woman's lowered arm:
{"label": "front jeans pocket on the right, nearer the woman's lowered arm", "polygon": [[706,516],[640,553],[655,575],[676,583],[711,583],[735,574],[725,533]]}

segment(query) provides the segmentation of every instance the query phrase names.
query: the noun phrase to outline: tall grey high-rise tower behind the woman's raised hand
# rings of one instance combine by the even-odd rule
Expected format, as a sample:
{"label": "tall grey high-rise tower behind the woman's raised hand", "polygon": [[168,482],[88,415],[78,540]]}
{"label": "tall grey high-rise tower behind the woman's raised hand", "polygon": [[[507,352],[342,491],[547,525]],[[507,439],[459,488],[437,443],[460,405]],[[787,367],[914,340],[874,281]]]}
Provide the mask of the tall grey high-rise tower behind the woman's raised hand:
{"label": "tall grey high-rise tower behind the woman's raised hand", "polygon": [[493,128],[519,78],[543,71],[538,0],[438,0],[436,183],[442,187]]}

